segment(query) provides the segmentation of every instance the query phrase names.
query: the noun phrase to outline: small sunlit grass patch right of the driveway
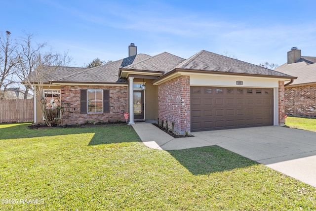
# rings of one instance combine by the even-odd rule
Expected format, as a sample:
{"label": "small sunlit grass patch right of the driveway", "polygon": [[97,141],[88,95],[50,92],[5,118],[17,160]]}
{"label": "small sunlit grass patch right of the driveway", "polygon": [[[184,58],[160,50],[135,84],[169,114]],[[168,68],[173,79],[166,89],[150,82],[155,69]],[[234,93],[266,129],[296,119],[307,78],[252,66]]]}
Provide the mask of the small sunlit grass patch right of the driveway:
{"label": "small sunlit grass patch right of the driveway", "polygon": [[285,125],[291,128],[304,129],[316,132],[316,119],[287,117]]}

